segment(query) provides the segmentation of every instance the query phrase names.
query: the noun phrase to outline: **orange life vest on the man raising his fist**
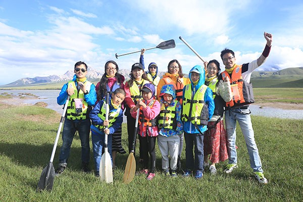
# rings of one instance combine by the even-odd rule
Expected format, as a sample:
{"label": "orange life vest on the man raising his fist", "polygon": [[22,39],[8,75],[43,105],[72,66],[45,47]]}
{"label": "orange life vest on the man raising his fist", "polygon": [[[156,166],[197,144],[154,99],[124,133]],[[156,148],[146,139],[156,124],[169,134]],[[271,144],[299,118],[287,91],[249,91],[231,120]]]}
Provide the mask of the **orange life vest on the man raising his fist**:
{"label": "orange life vest on the man raising his fist", "polygon": [[255,103],[251,83],[243,81],[242,65],[236,65],[232,71],[231,77],[226,70],[221,74],[223,80],[225,77],[229,78],[232,92],[232,99],[230,102],[226,103],[226,107],[238,107]]}

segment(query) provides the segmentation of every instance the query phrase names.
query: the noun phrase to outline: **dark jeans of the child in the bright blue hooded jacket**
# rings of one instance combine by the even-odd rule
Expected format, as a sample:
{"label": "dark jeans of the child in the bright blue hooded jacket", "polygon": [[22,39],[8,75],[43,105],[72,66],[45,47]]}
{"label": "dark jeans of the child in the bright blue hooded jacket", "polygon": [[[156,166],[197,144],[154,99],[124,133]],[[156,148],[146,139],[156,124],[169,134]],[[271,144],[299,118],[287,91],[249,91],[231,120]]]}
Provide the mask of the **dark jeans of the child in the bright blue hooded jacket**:
{"label": "dark jeans of the child in the bright blue hooded jacket", "polygon": [[[186,169],[204,171],[204,136],[200,133],[189,134],[184,132]],[[193,159],[194,146],[194,159]]]}

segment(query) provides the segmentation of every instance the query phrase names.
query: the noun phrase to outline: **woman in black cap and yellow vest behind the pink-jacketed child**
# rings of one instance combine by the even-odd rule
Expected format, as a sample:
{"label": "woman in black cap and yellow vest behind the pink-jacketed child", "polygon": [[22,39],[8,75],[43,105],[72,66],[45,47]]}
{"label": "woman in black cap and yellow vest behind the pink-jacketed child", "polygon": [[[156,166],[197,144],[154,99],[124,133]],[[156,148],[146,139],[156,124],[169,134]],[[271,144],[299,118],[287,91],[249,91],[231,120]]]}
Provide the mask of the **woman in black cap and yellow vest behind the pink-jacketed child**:
{"label": "woman in black cap and yellow vest behind the pink-jacketed child", "polygon": [[128,133],[128,150],[129,153],[131,151],[133,136],[134,136],[134,129],[135,129],[135,118],[131,116],[131,112],[137,111],[135,109],[137,105],[137,101],[140,96],[140,90],[142,86],[146,83],[150,83],[146,77],[144,72],[144,67],[140,63],[135,63],[131,67],[130,72],[130,79],[125,83],[124,90],[126,92],[125,96],[125,116],[127,118],[127,133]]}

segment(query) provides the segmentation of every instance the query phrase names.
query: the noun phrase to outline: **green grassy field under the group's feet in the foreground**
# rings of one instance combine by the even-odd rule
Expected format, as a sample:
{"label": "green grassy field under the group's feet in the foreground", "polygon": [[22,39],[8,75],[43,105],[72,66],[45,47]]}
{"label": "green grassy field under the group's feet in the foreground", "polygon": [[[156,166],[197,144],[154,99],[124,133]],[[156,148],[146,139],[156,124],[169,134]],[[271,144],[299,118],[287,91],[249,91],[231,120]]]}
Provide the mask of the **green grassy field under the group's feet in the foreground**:
{"label": "green grassy field under the group's feet in the foreground", "polygon": [[[80,171],[80,140],[75,136],[67,170],[54,180],[51,192],[36,192],[42,169],[49,162],[60,115],[35,106],[0,105],[0,201],[302,201],[303,120],[252,116],[267,185],[252,175],[243,136],[237,129],[238,166],[233,173],[222,172],[227,162],[208,171],[203,179],[167,178],[161,172],[158,145],[157,173],[152,181],[135,176],[130,184],[122,182],[128,155],[118,155],[114,183],[106,184],[93,173]],[[124,148],[127,148],[123,125]],[[54,166],[58,165],[60,139]],[[184,149],[184,148],[183,148]],[[138,150],[138,149],[137,149]],[[185,165],[183,150],[182,164]],[[140,165],[137,165],[138,169]],[[93,169],[91,159],[90,168]]]}

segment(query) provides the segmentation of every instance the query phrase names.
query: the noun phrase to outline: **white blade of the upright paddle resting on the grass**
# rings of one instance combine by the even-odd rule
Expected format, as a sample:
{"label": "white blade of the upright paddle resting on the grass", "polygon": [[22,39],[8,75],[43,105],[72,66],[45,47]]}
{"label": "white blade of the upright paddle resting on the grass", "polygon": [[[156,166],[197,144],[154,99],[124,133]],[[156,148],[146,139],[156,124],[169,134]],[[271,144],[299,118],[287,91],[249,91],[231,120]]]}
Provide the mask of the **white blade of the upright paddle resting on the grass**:
{"label": "white blade of the upright paddle resting on the grass", "polygon": [[112,160],[108,151],[105,151],[101,157],[99,175],[102,181],[105,181],[106,183],[113,182]]}

